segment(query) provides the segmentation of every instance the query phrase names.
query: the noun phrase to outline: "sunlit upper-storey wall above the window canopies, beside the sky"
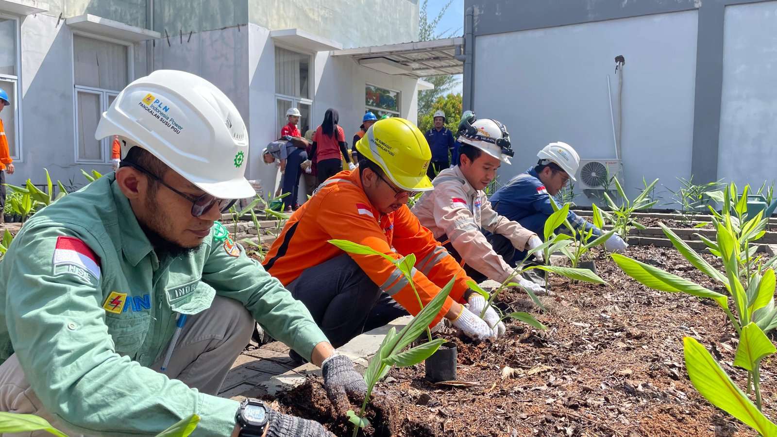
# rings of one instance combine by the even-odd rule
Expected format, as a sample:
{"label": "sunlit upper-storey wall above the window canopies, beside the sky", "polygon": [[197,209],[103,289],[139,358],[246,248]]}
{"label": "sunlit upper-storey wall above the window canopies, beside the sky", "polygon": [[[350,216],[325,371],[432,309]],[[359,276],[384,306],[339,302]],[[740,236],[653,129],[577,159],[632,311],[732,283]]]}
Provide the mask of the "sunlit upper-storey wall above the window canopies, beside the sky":
{"label": "sunlit upper-storey wall above the window canopies, beside the sky", "polygon": [[248,2],[250,23],[269,30],[299,28],[343,48],[418,40],[418,0]]}

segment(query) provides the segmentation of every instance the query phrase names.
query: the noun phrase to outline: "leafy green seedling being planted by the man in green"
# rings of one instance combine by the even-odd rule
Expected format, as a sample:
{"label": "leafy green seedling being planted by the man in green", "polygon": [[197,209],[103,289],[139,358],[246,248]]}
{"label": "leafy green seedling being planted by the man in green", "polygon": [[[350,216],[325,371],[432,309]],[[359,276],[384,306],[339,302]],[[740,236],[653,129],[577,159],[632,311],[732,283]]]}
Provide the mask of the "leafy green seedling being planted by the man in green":
{"label": "leafy green seedling being planted by the man in green", "polygon": [[[433,355],[434,352],[440,348],[441,344],[445,342],[444,338],[432,340],[429,323],[434,320],[434,317],[437,316],[437,313],[442,309],[445,299],[448,298],[448,295],[451,293],[455,278],[451,278],[451,281],[448,281],[448,284],[434,296],[434,299],[432,299],[427,306],[423,306],[420,295],[418,295],[418,292],[416,291],[416,285],[413,282],[412,271],[413,266],[416,264],[416,256],[413,253],[395,260],[393,257],[372,249],[369,246],[352,243],[345,239],[330,239],[329,243],[332,243],[340,248],[340,250],[348,253],[375,255],[391,261],[391,263],[394,264],[409,281],[409,284],[413,288],[413,292],[416,294],[416,299],[418,299],[418,305],[421,308],[420,313],[413,317],[413,320],[410,320],[410,323],[402,328],[402,330],[399,331],[399,334],[396,334],[396,329],[393,327],[389,330],[389,333],[386,334],[380,348],[375,352],[375,357],[372,358],[372,361],[368,365],[367,371],[364,372],[364,383],[367,384],[367,396],[364,397],[364,402],[361,404],[361,411],[359,414],[356,414],[354,411],[348,411],[347,413],[349,417],[348,420],[354,424],[354,437],[356,437],[359,433],[359,429],[369,425],[369,421],[364,418],[364,410],[367,408],[372,390],[375,387],[375,384],[389,373],[392,365],[409,367],[410,365],[416,365],[423,362],[423,360]],[[427,331],[429,341],[403,351],[410,343],[416,340],[423,330]]]}

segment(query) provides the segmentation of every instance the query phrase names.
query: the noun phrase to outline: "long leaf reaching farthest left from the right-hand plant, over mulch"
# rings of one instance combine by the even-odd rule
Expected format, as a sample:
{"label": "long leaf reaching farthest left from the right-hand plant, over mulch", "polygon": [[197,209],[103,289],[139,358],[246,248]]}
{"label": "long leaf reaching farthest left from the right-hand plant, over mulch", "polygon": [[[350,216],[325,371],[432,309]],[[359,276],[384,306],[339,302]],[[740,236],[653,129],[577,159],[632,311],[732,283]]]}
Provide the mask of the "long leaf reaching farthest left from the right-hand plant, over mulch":
{"label": "long leaf reaching farthest left from the right-hand plant, over mulch", "polygon": [[684,292],[689,295],[708,297],[710,299],[715,299],[721,308],[728,309],[728,299],[726,295],[713,292],[708,288],[704,288],[695,282],[688,281],[688,279],[681,278],[676,274],[671,274],[660,268],[641,263],[638,260],[632,260],[631,258],[624,257],[618,253],[612,253],[610,256],[615,260],[615,264],[618,264],[618,267],[621,267],[621,270],[624,271],[625,274],[628,274],[642,285],[646,285],[660,292]]}

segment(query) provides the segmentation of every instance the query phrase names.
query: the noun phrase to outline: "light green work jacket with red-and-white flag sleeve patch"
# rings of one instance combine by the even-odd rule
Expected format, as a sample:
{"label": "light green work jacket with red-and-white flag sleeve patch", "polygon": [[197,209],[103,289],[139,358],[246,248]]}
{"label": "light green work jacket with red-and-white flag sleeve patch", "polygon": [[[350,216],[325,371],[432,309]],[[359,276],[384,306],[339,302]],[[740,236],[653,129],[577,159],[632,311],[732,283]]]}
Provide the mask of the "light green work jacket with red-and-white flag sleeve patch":
{"label": "light green work jacket with red-and-white flag sleeve patch", "polygon": [[86,435],[155,435],[190,414],[192,435],[230,435],[238,402],[148,368],[176,313],[216,294],[305,358],[327,341],[218,222],[193,253],[157,256],[110,173],[33,215],[0,261],[0,362],[16,352],[44,407]]}

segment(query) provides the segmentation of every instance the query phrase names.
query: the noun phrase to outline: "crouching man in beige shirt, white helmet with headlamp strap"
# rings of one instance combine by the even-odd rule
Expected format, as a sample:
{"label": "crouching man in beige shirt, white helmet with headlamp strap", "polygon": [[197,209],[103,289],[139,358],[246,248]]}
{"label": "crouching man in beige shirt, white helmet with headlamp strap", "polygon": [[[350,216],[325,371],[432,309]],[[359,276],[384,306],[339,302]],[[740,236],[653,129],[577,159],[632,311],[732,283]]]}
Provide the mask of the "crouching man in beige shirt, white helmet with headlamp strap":
{"label": "crouching man in beige shirt, white helmet with headlamp strap", "polygon": [[[512,259],[516,249],[539,246],[542,240],[535,232],[497,214],[483,191],[497,177],[501,163],[510,164],[514,154],[504,125],[488,118],[478,120],[472,114],[462,118],[458,135],[458,165],[437,174],[432,181],[434,191],[423,193],[411,211],[456,260],[465,263],[465,271],[474,281],[501,283],[514,270],[503,257]],[[491,246],[481,229],[503,236],[505,243]],[[515,281],[535,293],[545,293],[531,281],[520,277]]]}

